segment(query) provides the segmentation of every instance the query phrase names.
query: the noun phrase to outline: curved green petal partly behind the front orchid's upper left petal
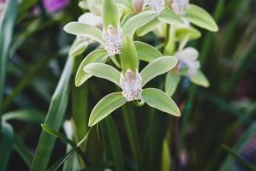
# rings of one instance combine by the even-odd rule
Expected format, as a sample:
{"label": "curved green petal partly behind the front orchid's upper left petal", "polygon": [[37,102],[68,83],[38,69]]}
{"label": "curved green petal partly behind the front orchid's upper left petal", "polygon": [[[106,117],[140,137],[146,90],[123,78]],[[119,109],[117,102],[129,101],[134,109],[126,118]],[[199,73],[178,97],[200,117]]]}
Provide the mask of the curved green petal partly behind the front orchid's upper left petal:
{"label": "curved green petal partly behind the front orchid's upper left petal", "polygon": [[84,82],[86,82],[86,80],[92,77],[91,74],[86,74],[86,72],[84,71],[84,68],[87,64],[89,64],[90,62],[105,62],[107,56],[108,53],[106,50],[94,50],[89,55],[87,55],[77,69],[74,79],[75,86],[82,85]]}

